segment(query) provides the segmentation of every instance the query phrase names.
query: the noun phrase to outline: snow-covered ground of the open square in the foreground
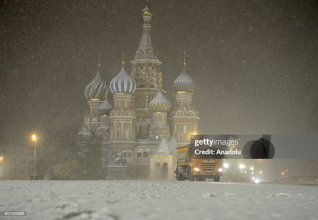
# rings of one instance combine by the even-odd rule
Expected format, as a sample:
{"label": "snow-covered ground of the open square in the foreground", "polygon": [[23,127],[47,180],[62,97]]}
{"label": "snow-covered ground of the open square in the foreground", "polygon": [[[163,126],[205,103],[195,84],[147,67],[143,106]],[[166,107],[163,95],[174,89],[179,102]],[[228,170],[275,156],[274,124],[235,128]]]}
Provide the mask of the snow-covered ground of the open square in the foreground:
{"label": "snow-covered ground of the open square in the foreground", "polygon": [[0,219],[318,219],[317,185],[0,181]]}

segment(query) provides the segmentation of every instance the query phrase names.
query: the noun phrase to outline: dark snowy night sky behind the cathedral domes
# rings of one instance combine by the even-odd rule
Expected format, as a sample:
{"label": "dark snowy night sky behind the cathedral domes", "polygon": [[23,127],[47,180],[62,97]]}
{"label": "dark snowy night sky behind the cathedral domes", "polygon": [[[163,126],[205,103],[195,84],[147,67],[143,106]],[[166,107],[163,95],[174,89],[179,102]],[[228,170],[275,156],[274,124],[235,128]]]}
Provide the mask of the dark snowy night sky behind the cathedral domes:
{"label": "dark snowy night sky behind the cathedral domes", "polygon": [[[146,1],[1,1],[0,142],[81,125],[84,89],[126,70]],[[202,134],[318,134],[316,1],[151,1],[170,99],[187,68]],[[40,141],[40,140],[39,140]]]}

